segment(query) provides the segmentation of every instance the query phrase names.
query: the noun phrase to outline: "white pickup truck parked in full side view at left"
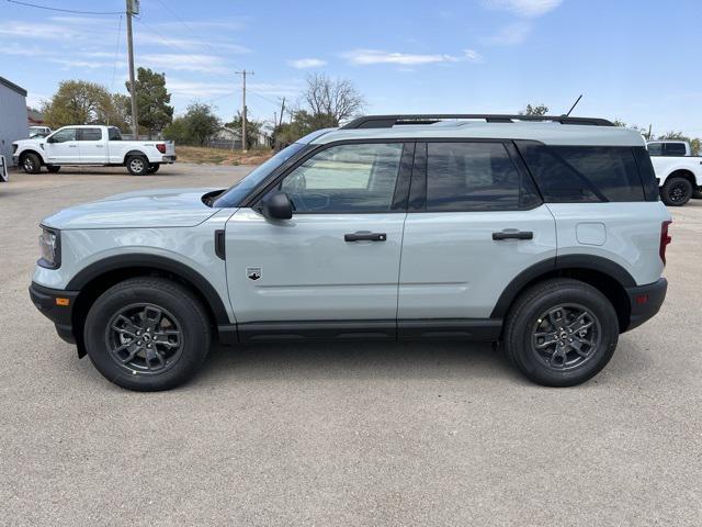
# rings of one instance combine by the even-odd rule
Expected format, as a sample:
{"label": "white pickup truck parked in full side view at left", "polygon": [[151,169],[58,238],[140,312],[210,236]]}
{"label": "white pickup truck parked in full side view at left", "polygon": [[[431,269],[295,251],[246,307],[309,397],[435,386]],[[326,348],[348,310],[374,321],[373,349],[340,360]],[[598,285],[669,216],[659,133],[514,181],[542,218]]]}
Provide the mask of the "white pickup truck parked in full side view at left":
{"label": "white pickup truck parked in full side view at left", "polygon": [[176,161],[172,141],[123,141],[115,126],[64,126],[50,135],[12,143],[15,164],[27,173],[38,173],[42,166],[58,172],[63,166],[125,166],[133,176],[156,172]]}

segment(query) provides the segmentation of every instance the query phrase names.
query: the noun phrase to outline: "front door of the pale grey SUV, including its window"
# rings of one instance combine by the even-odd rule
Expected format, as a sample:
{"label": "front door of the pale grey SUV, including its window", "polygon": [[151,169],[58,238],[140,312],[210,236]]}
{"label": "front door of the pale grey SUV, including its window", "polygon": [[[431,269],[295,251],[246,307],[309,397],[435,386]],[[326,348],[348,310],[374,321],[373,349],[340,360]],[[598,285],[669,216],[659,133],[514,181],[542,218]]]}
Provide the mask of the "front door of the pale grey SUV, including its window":
{"label": "front door of the pale grey SUV, including its window", "polygon": [[394,335],[408,188],[398,181],[408,182],[412,149],[403,143],[328,146],[270,191],[287,193],[291,220],[239,209],[226,225],[237,323],[375,321]]}

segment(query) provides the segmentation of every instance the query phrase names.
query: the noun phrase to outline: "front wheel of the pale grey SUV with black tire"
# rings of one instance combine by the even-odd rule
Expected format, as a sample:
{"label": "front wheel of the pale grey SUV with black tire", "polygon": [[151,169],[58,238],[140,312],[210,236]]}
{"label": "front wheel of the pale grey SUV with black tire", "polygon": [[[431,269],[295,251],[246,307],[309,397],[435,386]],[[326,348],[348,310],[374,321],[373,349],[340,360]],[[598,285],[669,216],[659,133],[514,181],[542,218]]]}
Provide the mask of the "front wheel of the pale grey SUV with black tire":
{"label": "front wheel of the pale grey SUV with black tire", "polygon": [[197,372],[210,351],[211,326],[185,288],[162,278],[133,278],[95,301],[83,337],[105,379],[152,392],[176,388]]}

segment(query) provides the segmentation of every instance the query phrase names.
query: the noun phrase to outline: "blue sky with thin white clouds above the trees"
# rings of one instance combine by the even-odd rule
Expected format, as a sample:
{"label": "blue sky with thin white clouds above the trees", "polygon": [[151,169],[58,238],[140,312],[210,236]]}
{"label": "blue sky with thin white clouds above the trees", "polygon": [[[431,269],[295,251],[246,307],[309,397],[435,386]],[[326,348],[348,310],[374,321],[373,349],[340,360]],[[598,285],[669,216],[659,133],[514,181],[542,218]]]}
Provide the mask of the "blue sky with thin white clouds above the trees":
{"label": "blue sky with thin white clouds above the trees", "polygon": [[[124,11],[124,0],[23,0]],[[125,16],[0,0],[0,76],[50,99],[67,79],[126,93]],[[350,79],[364,113],[514,113],[526,103],[702,136],[701,0],[141,0],[136,66],[171,103],[272,120],[313,72]]]}

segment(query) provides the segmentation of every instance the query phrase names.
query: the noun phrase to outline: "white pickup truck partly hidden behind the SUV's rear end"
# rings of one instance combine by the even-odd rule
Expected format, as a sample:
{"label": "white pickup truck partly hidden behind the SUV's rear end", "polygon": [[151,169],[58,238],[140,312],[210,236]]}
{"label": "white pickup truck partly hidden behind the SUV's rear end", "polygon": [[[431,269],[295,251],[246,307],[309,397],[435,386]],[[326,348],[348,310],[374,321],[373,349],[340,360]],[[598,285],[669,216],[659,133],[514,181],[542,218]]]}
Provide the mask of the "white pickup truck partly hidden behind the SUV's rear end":
{"label": "white pickup truck partly hidden behind the SUV's rear end", "polygon": [[682,206],[702,198],[702,157],[692,155],[690,143],[650,141],[647,147],[666,205]]}

